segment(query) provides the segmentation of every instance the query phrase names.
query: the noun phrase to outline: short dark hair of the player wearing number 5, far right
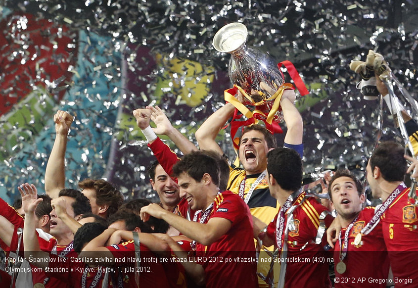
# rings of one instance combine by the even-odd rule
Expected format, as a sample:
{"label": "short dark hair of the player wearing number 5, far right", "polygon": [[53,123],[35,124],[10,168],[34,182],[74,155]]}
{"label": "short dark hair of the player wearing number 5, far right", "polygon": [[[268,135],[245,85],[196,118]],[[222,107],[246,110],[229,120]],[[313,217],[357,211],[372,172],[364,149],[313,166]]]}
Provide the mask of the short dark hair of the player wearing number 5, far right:
{"label": "short dark hair of the player wearing number 5, far right", "polygon": [[396,142],[386,141],[379,144],[370,157],[370,167],[379,167],[384,180],[388,182],[404,181],[408,168],[404,158],[405,149]]}

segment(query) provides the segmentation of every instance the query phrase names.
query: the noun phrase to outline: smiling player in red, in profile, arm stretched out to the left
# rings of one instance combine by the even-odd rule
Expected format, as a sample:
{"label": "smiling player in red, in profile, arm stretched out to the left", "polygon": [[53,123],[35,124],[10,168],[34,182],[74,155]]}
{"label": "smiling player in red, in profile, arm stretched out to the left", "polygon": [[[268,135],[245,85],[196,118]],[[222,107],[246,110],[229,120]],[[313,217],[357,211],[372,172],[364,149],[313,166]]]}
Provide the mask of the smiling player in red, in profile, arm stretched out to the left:
{"label": "smiling player in red, in profile, arm stretched out to the left", "polygon": [[235,260],[255,258],[251,214],[238,195],[219,191],[217,161],[195,151],[184,156],[173,171],[181,196],[191,209],[202,211],[191,222],[150,204],[141,209],[141,218],[163,219],[194,240],[196,256],[200,258],[196,258],[197,263],[188,261],[185,269],[196,284],[205,284],[206,288],[258,287],[256,262]]}

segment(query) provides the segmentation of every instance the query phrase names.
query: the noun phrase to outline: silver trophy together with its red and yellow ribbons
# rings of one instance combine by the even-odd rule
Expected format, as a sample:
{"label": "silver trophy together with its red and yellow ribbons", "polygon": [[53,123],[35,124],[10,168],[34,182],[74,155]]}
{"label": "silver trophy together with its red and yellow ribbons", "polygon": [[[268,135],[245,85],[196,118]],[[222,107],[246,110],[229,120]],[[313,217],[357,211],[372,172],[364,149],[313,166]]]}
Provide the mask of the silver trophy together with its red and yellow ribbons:
{"label": "silver trophy together with its red and yellow ribbons", "polygon": [[[230,53],[229,77],[233,88],[225,91],[225,100],[235,106],[231,122],[231,136],[240,126],[257,124],[259,120],[266,124],[272,133],[281,133],[280,99],[285,89],[294,89],[289,83],[284,83],[284,77],[279,67],[284,65],[295,82],[301,95],[308,94],[303,81],[290,61],[277,64],[267,53],[257,48],[246,46],[248,30],[242,23],[230,23],[222,27],[213,38],[213,47],[224,53]],[[242,95],[242,100],[235,98]],[[253,107],[253,108],[252,108]],[[253,110],[251,111],[250,108]],[[247,120],[235,121],[241,112]],[[234,146],[237,143],[234,141]]]}

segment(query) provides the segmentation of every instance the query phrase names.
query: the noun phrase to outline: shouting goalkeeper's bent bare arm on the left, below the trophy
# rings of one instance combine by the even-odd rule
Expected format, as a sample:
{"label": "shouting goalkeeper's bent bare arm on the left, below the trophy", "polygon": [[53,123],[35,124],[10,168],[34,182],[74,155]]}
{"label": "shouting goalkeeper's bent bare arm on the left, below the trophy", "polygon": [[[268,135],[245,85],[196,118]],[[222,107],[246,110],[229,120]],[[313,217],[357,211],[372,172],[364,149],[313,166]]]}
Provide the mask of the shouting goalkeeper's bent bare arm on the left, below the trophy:
{"label": "shouting goalkeeper's bent bare arm on the left, below the trophy", "polygon": [[215,139],[228,119],[232,117],[234,110],[235,107],[231,103],[226,103],[200,125],[195,136],[201,150],[214,150],[220,155],[224,154]]}

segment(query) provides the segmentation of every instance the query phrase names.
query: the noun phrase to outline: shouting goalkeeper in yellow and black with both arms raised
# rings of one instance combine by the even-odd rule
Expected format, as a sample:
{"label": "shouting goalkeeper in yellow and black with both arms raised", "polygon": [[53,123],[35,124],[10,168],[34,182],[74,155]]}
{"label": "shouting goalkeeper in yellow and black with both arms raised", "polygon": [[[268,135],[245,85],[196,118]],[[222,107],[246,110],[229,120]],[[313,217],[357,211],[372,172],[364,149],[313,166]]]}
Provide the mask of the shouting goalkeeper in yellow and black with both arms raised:
{"label": "shouting goalkeeper in yellow and black with both arms raised", "polygon": [[[274,92],[273,92],[274,94]],[[296,95],[293,90],[283,91],[280,107],[287,126],[284,146],[295,149],[303,155],[303,122],[299,111],[293,104]],[[215,139],[221,128],[232,117],[235,107],[231,103],[213,113],[196,131],[196,140],[200,149],[215,150],[220,155],[224,152]],[[239,139],[238,156],[242,168],[231,166],[227,190],[238,194],[250,208],[251,214],[267,226],[279,211],[277,200],[270,195],[265,170],[267,168],[267,152],[276,148],[275,136],[260,125],[245,127]],[[260,254],[260,257],[263,254]],[[264,256],[263,256],[264,257]],[[264,264],[263,264],[264,263]],[[268,262],[259,262],[258,272],[264,277],[269,274]],[[275,264],[275,278],[278,278],[279,265]],[[263,278],[264,278],[263,277]],[[261,287],[267,284],[260,279]]]}

